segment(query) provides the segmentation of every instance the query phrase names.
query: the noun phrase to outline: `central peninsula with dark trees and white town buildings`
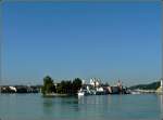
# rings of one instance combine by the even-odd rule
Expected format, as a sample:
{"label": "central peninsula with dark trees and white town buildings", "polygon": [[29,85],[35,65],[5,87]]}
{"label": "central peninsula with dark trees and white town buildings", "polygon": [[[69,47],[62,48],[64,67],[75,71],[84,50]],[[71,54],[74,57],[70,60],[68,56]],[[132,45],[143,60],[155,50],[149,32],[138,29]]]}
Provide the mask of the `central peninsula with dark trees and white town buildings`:
{"label": "central peninsula with dark trees and white town buildings", "polygon": [[110,86],[102,83],[99,79],[91,78],[90,83],[85,83],[80,78],[74,80],[63,80],[55,83],[51,77],[43,78],[41,88],[42,96],[76,96],[76,95],[106,95],[106,94],[129,94],[127,88],[122,85],[118,80],[117,85]]}

